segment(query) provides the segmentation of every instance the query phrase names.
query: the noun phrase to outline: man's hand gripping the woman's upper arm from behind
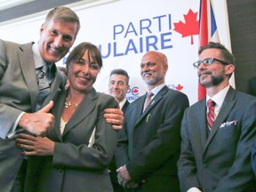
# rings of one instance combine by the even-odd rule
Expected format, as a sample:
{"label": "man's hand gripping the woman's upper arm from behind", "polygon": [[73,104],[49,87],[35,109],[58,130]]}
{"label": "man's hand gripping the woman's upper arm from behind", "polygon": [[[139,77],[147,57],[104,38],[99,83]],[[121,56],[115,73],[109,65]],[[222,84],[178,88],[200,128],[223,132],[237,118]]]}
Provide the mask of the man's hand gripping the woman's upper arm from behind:
{"label": "man's hand gripping the woman's upper arm from behind", "polygon": [[124,123],[124,113],[119,108],[106,108],[104,117],[109,124],[112,124],[113,129],[120,130]]}

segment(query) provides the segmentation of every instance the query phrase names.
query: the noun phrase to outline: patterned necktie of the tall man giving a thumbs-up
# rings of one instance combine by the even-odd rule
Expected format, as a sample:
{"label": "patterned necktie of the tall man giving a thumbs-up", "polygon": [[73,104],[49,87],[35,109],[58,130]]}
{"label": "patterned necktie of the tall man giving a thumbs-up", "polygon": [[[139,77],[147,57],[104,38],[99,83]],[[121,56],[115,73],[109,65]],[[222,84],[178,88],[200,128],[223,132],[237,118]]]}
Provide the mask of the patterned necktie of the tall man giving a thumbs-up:
{"label": "patterned necktie of the tall man giving a thumbs-up", "polygon": [[39,89],[36,110],[42,107],[44,99],[50,93],[50,84],[52,83],[52,77],[49,70],[50,68],[48,68],[48,65],[44,65],[43,67],[36,69],[37,85]]}

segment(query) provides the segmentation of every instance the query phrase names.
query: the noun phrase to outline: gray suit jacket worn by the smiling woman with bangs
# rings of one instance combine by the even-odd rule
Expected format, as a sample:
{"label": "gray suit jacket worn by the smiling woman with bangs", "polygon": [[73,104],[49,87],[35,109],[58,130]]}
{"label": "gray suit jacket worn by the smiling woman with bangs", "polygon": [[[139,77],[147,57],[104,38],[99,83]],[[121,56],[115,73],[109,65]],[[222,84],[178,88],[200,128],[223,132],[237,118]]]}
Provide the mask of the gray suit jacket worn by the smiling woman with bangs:
{"label": "gray suit jacket worn by the smiling woman with bangs", "polygon": [[[47,137],[55,141],[53,156],[28,159],[26,191],[112,191],[108,164],[114,155],[117,131],[103,117],[105,108],[118,108],[116,100],[92,88],[60,134],[60,116],[67,92],[52,108],[55,125]],[[95,142],[88,147],[96,127]]]}

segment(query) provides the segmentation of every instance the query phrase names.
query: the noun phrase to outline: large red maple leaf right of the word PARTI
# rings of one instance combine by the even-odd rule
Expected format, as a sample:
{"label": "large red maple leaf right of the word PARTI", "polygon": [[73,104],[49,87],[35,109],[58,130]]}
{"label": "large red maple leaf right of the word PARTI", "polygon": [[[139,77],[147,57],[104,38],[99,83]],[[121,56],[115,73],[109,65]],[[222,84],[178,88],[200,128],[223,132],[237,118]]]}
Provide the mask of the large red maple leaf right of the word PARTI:
{"label": "large red maple leaf right of the word PARTI", "polygon": [[199,20],[196,20],[197,12],[192,12],[189,9],[188,14],[184,14],[185,23],[179,21],[179,23],[173,23],[174,29],[178,33],[185,36],[191,36],[191,44],[194,44],[193,36],[199,34]]}

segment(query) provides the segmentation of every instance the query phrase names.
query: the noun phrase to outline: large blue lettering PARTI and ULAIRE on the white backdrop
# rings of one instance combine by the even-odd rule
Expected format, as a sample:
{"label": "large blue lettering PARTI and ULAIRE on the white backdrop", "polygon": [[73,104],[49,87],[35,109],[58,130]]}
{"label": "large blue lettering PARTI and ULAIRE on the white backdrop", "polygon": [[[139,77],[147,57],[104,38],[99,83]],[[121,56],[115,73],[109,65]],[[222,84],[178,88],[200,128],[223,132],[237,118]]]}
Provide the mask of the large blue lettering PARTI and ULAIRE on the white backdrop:
{"label": "large blue lettering PARTI and ULAIRE on the white backdrop", "polygon": [[129,53],[148,52],[172,48],[171,14],[160,15],[152,19],[129,22],[113,27],[113,42],[99,44],[102,58],[120,57]]}

